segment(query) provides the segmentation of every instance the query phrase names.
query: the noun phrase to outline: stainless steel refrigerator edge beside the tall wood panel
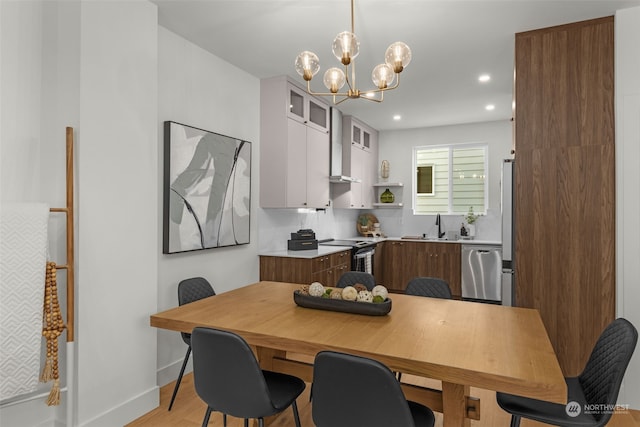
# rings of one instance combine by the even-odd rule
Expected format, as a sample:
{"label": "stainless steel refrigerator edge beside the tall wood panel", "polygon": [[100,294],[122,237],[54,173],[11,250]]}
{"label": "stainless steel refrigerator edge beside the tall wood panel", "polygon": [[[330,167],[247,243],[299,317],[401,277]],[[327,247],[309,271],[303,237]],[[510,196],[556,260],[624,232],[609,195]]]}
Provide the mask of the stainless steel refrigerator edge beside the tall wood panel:
{"label": "stainless steel refrigerator edge beside the tall wood panel", "polygon": [[514,159],[502,162],[502,305],[515,305]]}

